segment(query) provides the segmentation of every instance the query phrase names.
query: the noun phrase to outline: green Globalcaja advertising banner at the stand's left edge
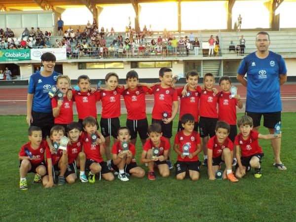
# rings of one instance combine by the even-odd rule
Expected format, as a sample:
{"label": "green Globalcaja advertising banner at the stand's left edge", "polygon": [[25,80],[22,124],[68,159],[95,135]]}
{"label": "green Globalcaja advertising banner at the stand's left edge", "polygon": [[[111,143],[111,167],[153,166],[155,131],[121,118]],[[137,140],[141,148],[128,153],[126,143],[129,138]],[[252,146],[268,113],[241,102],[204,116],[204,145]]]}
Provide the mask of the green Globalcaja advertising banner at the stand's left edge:
{"label": "green Globalcaja advertising banner at the stand's left edge", "polygon": [[30,49],[1,49],[0,50],[0,62],[1,61],[22,61],[31,60]]}

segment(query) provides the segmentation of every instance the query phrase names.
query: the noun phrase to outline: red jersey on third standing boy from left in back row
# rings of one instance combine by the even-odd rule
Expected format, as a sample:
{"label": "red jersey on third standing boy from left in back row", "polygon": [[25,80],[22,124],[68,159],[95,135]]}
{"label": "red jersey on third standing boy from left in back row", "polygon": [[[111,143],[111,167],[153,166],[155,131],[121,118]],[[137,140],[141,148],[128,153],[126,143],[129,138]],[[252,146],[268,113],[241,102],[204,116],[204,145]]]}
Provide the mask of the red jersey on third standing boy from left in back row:
{"label": "red jersey on third standing boy from left in back row", "polygon": [[115,90],[100,91],[102,100],[102,118],[116,118],[120,116],[120,94],[124,88],[117,87]]}

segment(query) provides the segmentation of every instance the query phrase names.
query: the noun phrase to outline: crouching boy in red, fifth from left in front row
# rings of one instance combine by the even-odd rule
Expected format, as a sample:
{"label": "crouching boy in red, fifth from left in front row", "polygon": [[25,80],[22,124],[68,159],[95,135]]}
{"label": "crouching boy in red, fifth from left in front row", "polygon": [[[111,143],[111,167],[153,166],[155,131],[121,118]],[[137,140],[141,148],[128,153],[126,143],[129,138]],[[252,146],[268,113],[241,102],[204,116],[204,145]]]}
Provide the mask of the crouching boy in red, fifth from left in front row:
{"label": "crouching boy in red, fifth from left in front row", "polygon": [[[132,177],[143,178],[145,176],[145,171],[137,166],[135,161],[136,147],[132,143],[129,143],[131,135],[129,129],[125,127],[120,127],[118,129],[117,143],[114,143],[112,147],[112,168],[118,172],[118,179],[121,181],[128,181],[126,174]],[[123,146],[127,146],[128,150],[123,150]]]}

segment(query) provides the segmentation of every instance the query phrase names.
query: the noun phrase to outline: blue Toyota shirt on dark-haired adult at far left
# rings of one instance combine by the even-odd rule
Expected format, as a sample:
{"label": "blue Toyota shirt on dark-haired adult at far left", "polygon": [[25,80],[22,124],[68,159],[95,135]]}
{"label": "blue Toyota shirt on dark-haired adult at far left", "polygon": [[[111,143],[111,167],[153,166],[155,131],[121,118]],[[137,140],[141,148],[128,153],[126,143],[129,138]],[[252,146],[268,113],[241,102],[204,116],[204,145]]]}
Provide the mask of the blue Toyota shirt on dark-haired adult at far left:
{"label": "blue Toyota shirt on dark-haired adult at far left", "polygon": [[39,72],[32,74],[29,81],[28,93],[34,94],[32,110],[37,112],[52,112],[51,99],[48,91],[60,73],[53,71],[47,77],[42,76]]}

